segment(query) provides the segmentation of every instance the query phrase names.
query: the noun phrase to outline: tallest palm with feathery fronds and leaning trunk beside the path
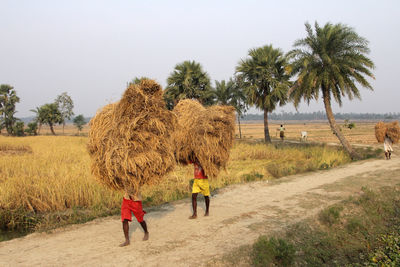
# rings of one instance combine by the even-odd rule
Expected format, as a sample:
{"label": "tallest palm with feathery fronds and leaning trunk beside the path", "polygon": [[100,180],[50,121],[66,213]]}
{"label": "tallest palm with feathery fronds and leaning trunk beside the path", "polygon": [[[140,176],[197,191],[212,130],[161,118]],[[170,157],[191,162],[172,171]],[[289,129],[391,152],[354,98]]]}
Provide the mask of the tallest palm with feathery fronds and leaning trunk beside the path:
{"label": "tallest palm with feathery fronds and leaning trunk beside the path", "polygon": [[360,99],[356,83],[373,90],[365,75],[374,78],[370,69],[374,63],[366,57],[368,41],[350,27],[327,23],[323,28],[315,23],[315,32],[305,24],[307,37],[294,43],[297,49],[288,53],[292,59],[292,73],[297,80],[290,90],[295,107],[303,98],[308,104],[318,100],[320,93],[326,115],[334,134],[352,158],[358,158],[350,143],[341,133],[332,112],[331,99],[342,105],[342,97]]}

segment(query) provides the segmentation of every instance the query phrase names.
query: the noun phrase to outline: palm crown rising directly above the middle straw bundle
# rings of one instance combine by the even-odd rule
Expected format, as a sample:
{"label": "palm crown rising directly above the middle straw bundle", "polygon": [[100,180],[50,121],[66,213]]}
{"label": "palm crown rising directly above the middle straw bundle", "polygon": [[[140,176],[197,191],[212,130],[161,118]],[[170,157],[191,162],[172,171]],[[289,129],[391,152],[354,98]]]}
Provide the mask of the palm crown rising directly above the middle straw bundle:
{"label": "palm crown rising directly above the middle straw bundle", "polygon": [[167,107],[172,109],[181,99],[197,99],[203,105],[213,103],[210,78],[199,63],[184,61],[177,64],[167,79],[164,93]]}

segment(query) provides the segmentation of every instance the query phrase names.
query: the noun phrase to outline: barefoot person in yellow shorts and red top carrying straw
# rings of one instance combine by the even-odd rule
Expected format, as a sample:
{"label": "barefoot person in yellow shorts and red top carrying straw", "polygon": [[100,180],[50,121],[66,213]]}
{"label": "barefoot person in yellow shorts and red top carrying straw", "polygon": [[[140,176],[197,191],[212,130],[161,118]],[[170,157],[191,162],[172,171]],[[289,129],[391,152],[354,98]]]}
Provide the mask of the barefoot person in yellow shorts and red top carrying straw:
{"label": "barefoot person in yellow shorts and red top carrying straw", "polygon": [[194,165],[194,182],[192,188],[192,207],[193,215],[189,219],[197,218],[197,195],[199,193],[203,194],[204,200],[206,202],[206,212],[204,216],[209,215],[210,208],[210,184],[208,183],[208,177],[204,173],[204,169],[201,167],[199,161],[195,159],[191,162]]}

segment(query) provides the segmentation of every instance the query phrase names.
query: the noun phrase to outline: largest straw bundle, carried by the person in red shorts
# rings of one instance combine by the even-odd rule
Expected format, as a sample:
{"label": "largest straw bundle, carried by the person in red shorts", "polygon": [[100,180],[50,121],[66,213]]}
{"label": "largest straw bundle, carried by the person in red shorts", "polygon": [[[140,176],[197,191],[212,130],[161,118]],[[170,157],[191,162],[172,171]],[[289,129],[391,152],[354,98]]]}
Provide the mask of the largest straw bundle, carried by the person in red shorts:
{"label": "largest straw bundle, carried by the person in red shorts", "polygon": [[104,185],[135,194],[173,169],[171,137],[177,120],[162,94],[155,81],[142,80],[90,121],[91,170]]}

